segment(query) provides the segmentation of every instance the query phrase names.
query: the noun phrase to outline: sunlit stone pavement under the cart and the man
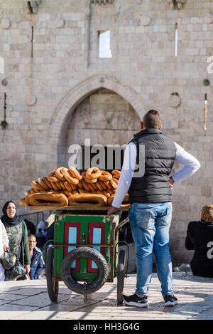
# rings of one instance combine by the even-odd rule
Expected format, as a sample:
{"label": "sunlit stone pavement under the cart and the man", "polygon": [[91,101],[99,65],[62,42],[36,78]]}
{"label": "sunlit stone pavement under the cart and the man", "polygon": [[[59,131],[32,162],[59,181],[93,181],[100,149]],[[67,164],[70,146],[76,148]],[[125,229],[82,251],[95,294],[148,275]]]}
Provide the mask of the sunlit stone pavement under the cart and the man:
{"label": "sunlit stone pavement under the cart and the man", "polygon": [[[160,283],[153,273],[148,308],[117,306],[116,278],[89,295],[82,295],[59,284],[58,302],[50,301],[45,279],[0,282],[0,320],[213,320],[213,279],[173,273],[178,305],[165,308]],[[124,293],[134,292],[136,275],[124,281]],[[82,323],[84,323],[82,321]]]}

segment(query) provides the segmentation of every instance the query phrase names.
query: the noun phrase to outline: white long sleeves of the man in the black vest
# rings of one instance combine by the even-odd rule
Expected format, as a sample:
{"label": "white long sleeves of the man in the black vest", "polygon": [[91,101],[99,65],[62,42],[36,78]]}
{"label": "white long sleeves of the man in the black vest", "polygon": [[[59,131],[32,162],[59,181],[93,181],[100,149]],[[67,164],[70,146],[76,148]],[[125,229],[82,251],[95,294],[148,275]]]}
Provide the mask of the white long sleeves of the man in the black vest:
{"label": "white long sleeves of the man in the black vest", "polygon": [[[177,183],[182,181],[182,179],[185,179],[186,177],[194,174],[197,169],[200,168],[200,162],[195,157],[193,157],[193,155],[190,155],[190,153],[186,152],[176,142],[174,142],[174,144],[176,148],[175,161],[180,162],[180,164],[184,165],[182,169],[171,175],[175,183]],[[129,190],[131,179],[133,177],[133,172],[136,167],[136,156],[136,145],[134,142],[130,142],[129,145],[126,146],[126,150],[124,152],[124,162],[121,169],[121,176],[119,178],[116,194],[112,202],[113,207],[121,207],[121,203],[123,202],[126,192],[128,192]]]}

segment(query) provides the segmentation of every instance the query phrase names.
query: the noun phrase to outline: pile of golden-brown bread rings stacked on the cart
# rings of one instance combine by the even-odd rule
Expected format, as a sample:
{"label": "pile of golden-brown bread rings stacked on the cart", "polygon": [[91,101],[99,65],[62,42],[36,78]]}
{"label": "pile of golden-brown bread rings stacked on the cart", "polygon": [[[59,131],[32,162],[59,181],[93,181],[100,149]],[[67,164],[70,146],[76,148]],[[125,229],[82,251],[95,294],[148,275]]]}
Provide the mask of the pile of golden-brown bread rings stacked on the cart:
{"label": "pile of golden-brown bread rings stacked on the cart", "polygon": [[[112,174],[91,167],[80,174],[75,167],[59,167],[47,177],[31,182],[19,204],[35,207],[105,207],[111,206],[121,172]],[[126,194],[121,207],[129,206]]]}

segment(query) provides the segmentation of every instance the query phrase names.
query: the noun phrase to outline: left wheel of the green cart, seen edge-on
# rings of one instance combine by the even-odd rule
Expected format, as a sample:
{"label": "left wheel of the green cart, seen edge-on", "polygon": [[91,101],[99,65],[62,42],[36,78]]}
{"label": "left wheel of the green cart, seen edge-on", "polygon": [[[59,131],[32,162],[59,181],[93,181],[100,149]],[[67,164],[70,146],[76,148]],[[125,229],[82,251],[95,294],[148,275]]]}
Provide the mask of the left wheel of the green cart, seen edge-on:
{"label": "left wheel of the green cart, seen edge-on", "polygon": [[53,246],[48,247],[46,255],[46,276],[47,276],[47,286],[48,295],[51,301],[57,301],[58,299],[58,281],[53,279]]}

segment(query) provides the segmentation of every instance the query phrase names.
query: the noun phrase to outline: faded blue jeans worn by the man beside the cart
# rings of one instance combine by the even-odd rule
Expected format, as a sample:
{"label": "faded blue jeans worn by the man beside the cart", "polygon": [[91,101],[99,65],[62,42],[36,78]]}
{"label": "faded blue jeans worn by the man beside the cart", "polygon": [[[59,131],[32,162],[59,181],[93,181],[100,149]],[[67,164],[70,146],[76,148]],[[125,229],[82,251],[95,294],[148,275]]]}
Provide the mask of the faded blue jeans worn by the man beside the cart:
{"label": "faded blue jeans worn by the man beside the cart", "polygon": [[153,254],[162,295],[173,295],[173,267],[169,251],[172,203],[131,204],[129,221],[136,247],[138,296],[148,294],[153,271]]}

